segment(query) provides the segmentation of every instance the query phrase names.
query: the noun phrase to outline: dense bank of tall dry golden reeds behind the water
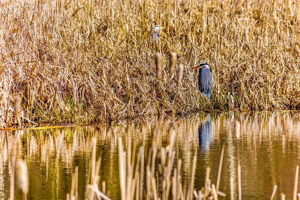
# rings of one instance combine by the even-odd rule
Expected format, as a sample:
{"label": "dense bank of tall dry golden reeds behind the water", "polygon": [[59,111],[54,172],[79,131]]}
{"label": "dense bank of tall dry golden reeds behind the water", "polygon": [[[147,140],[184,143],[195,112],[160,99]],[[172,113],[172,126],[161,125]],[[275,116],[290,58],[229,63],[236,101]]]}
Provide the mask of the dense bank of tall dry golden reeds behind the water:
{"label": "dense bank of tall dry golden reeds behind the water", "polygon": [[[2,0],[0,126],[92,123],[210,108],[196,86],[212,65],[214,109],[300,107],[299,0]],[[156,44],[153,25],[166,26]],[[161,52],[157,89],[155,52]],[[169,56],[178,68],[168,74]],[[173,77],[172,77],[173,76]]]}

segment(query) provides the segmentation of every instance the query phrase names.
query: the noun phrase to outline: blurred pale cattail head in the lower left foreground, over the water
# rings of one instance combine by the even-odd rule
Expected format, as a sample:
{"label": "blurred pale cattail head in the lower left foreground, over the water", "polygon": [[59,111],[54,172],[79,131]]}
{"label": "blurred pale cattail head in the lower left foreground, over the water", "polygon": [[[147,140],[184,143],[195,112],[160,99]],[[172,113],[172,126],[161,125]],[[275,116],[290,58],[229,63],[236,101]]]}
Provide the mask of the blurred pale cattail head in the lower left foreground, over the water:
{"label": "blurred pale cattail head in the lower left foreground, over the water", "polygon": [[15,179],[19,191],[22,195],[26,195],[28,192],[28,171],[26,162],[22,159],[18,159],[15,163]]}

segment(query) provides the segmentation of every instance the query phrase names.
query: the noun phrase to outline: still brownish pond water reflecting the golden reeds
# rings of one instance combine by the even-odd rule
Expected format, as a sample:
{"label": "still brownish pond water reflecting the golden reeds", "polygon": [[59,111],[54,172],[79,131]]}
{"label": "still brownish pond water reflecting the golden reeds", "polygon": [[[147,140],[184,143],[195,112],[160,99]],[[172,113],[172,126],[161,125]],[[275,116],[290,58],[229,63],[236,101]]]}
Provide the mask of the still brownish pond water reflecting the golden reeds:
{"label": "still brownish pond water reflecting the golden reeds", "polygon": [[[173,129],[175,161],[192,162],[196,155],[194,189],[205,182],[210,167],[215,183],[222,145],[225,147],[219,190],[230,198],[230,176],[237,195],[237,159],[234,121],[239,120],[242,199],[269,199],[277,185],[275,199],[291,199],[296,165],[300,162],[300,112],[202,113],[184,120],[160,122],[158,150],[168,144]],[[0,199],[9,197],[11,156],[24,159],[28,167],[27,199],[65,199],[71,188],[71,174],[78,166],[78,194],[84,199],[92,138],[101,154],[100,183],[106,193],[120,199],[118,138],[124,149],[128,138],[144,147],[144,157],[153,138],[154,122],[117,126],[81,126],[39,130],[0,131]],[[133,143],[133,142],[131,142]],[[188,160],[189,159],[189,160]],[[145,161],[146,163],[146,161]],[[299,178],[300,179],[300,178]],[[298,181],[300,192],[300,181]],[[15,198],[20,195],[15,192]]]}

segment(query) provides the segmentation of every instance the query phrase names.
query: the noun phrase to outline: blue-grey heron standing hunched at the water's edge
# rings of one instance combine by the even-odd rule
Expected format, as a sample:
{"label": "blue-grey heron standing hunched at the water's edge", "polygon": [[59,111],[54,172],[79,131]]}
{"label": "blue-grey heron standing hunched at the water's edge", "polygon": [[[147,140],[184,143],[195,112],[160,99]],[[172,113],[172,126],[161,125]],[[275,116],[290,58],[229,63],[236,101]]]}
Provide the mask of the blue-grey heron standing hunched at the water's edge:
{"label": "blue-grey heron standing hunched at the water's edge", "polygon": [[201,92],[209,99],[212,91],[213,79],[209,64],[202,62],[199,65],[192,67],[199,68],[198,87]]}

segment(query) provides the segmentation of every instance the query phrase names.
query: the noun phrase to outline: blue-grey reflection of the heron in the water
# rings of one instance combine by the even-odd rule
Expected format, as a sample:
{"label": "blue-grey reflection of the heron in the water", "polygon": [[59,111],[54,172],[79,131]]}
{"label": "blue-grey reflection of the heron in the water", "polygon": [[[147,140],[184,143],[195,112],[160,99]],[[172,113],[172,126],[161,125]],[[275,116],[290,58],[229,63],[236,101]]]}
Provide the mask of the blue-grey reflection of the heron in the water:
{"label": "blue-grey reflection of the heron in the water", "polygon": [[203,123],[200,123],[198,127],[199,134],[199,146],[202,150],[208,151],[210,143],[213,139],[213,130],[210,121],[210,114],[208,113]]}

